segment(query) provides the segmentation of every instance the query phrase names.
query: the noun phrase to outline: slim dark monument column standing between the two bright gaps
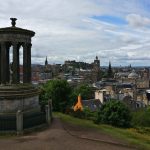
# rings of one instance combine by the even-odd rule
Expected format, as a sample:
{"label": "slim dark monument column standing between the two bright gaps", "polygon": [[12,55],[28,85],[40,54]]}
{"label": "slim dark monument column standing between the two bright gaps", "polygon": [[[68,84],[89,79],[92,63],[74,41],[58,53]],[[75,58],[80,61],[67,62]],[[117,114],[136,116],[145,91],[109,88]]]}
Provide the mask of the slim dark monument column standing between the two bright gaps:
{"label": "slim dark monument column standing between the two bright gaps", "polygon": [[12,83],[20,82],[20,66],[19,66],[19,46],[16,42],[13,43],[13,80]]}

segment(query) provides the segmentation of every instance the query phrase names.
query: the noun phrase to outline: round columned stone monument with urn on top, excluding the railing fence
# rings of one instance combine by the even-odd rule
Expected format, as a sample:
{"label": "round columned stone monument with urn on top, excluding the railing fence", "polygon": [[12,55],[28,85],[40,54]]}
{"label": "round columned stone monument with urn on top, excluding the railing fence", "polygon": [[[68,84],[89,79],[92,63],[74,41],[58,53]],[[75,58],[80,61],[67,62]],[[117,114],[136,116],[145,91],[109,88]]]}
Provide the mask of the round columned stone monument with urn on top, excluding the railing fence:
{"label": "round columned stone monument with urn on top, excluding the railing fence", "polygon": [[[31,38],[35,32],[16,27],[16,18],[11,27],[0,28],[0,118],[19,110],[40,111],[39,90],[31,84]],[[20,82],[20,47],[23,47],[23,83]],[[10,47],[13,62],[10,67]]]}

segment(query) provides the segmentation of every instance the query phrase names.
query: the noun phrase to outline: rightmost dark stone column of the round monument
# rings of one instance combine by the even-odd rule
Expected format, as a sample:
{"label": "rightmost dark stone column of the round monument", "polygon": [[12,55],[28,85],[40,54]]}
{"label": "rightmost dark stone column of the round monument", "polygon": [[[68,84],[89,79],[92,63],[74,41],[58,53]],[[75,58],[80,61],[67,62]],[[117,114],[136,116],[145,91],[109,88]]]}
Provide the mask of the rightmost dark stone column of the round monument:
{"label": "rightmost dark stone column of the round monument", "polygon": [[23,45],[23,83],[31,83],[31,44]]}

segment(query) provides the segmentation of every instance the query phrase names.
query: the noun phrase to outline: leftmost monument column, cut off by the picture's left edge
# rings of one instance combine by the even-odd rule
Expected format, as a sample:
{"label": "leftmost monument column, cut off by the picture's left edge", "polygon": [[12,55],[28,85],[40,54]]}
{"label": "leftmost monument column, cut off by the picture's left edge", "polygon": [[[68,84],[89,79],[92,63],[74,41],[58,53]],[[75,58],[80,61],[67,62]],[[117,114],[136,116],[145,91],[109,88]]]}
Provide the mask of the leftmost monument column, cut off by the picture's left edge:
{"label": "leftmost monument column, cut off by the picture's left edge", "polygon": [[6,44],[1,42],[1,84],[6,84]]}

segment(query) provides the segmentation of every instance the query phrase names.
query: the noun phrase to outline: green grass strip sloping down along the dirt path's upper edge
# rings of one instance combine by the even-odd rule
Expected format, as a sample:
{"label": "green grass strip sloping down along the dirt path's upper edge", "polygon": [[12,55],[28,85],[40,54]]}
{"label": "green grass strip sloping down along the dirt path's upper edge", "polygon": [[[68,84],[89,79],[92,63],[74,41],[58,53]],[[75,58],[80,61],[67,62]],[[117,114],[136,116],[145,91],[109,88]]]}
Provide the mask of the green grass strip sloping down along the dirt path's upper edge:
{"label": "green grass strip sloping down along the dirt path's upper edge", "polygon": [[129,144],[138,147],[140,150],[150,150],[150,132],[139,133],[139,130],[134,128],[122,129],[112,127],[110,125],[97,125],[90,120],[74,118],[62,113],[54,113],[54,115],[60,117],[62,121],[65,121],[67,123],[79,125],[86,128],[94,128],[106,134],[110,134],[111,136],[122,139]]}

